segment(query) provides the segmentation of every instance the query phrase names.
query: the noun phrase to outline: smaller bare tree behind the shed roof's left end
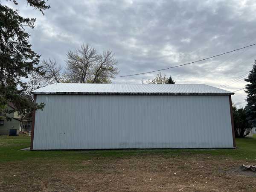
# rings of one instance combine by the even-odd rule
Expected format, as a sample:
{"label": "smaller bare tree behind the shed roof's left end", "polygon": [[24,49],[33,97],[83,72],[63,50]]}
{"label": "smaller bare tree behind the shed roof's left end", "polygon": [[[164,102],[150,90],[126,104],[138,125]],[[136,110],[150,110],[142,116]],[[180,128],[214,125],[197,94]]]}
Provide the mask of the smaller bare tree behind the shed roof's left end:
{"label": "smaller bare tree behind the shed roof's left end", "polygon": [[61,73],[62,67],[55,59],[43,60],[41,67],[42,71],[44,71],[44,75],[32,74],[31,79],[33,84],[38,84],[41,87],[52,83],[67,81],[65,74]]}

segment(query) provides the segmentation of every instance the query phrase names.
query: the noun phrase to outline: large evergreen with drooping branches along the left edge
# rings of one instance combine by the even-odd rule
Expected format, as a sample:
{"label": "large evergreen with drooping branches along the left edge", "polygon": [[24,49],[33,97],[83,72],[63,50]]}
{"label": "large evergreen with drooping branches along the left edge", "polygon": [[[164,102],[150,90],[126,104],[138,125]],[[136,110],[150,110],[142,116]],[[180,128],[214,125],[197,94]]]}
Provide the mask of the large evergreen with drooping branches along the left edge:
{"label": "large evergreen with drooping branches along the left edge", "polygon": [[[17,5],[16,0],[10,0]],[[42,14],[50,6],[44,0],[27,0],[27,3]],[[43,75],[38,66],[40,55],[31,49],[29,33],[25,28],[34,28],[35,18],[24,18],[18,10],[0,4],[0,110],[5,114],[12,102],[20,115],[34,109],[42,109],[44,104],[33,104],[26,90],[29,84],[22,81],[31,73]]]}

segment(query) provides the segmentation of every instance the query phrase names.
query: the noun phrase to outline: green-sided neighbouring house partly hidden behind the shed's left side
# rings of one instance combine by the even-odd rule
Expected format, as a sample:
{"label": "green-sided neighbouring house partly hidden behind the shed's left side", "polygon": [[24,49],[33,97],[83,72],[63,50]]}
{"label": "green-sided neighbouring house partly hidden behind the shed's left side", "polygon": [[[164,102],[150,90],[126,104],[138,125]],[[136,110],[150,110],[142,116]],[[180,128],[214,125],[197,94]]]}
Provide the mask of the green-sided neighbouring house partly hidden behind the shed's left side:
{"label": "green-sided neighbouring house partly hidden behind the shed's left side", "polygon": [[[12,103],[9,103],[7,108],[8,110],[16,110]],[[10,130],[16,130],[16,134],[19,134],[20,117],[18,116],[18,112],[14,111],[13,113],[7,114],[7,116],[11,117],[12,120],[7,120],[4,113],[0,113],[0,135],[9,135]]]}

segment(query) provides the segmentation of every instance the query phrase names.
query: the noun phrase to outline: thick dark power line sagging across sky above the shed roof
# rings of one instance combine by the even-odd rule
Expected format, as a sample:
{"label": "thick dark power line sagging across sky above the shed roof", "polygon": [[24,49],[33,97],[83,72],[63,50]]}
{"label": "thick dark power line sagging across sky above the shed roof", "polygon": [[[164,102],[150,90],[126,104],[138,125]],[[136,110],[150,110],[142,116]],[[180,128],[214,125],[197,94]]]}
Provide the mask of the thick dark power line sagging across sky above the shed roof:
{"label": "thick dark power line sagging across sky above the shed roof", "polygon": [[193,64],[193,63],[196,63],[196,62],[199,62],[199,61],[204,61],[204,60],[207,60],[207,59],[210,59],[210,58],[214,58],[214,57],[218,57],[218,56],[221,56],[221,55],[225,55],[227,53],[238,51],[238,50],[241,50],[241,49],[244,49],[244,48],[247,48],[247,47],[251,47],[251,46],[254,46],[254,45],[256,45],[256,43],[255,44],[251,44],[251,45],[247,45],[245,47],[241,47],[239,49],[234,49],[232,51],[228,51],[228,52],[224,52],[224,53],[221,53],[221,54],[218,54],[218,55],[214,55],[214,56],[211,56],[211,57],[208,57],[208,58],[204,58],[204,59],[200,59],[200,60],[193,61],[193,62],[190,62],[190,63],[186,63],[186,64],[176,65],[176,66],[173,66],[173,67],[168,67],[168,68],[164,68],[164,69],[160,69],[160,70],[148,71],[148,72],[145,72],[145,73],[136,73],[136,74],[126,75],[126,76],[116,76],[116,77],[113,77],[113,78],[137,76],[137,75],[143,75],[143,74],[146,74],[146,73],[153,73],[153,72],[158,72],[158,71],[162,71],[162,70],[168,70],[168,69],[172,69],[172,68],[176,68],[176,67],[181,67],[181,66],[185,66],[185,65],[188,65],[188,64]]}

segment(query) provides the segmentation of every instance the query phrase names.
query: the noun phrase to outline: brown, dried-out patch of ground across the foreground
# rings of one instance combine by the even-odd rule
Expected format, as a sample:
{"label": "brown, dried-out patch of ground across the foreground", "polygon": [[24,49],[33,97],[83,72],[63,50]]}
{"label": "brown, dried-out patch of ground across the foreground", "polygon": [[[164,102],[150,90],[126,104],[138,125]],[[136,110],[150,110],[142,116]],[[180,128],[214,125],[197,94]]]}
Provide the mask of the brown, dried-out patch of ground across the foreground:
{"label": "brown, dried-out patch of ground across the foreground", "polygon": [[233,172],[241,164],[208,155],[101,157],[73,164],[30,163],[27,169],[9,164],[0,169],[0,191],[255,192],[255,174]]}

